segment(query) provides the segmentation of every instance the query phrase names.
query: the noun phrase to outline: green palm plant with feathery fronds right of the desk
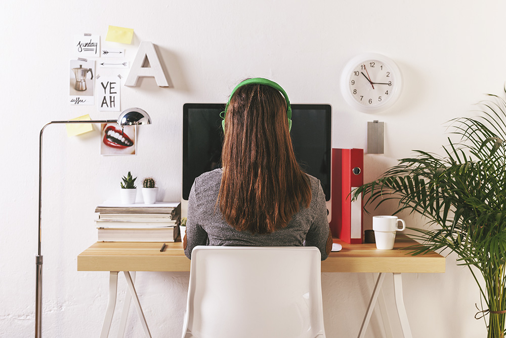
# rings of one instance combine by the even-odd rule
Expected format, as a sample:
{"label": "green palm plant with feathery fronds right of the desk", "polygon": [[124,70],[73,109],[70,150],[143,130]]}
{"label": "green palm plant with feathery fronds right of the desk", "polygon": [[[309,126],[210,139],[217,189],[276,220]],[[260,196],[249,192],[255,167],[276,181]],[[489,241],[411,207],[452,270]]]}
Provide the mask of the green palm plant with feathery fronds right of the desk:
{"label": "green palm plant with feathery fronds right of the desk", "polygon": [[[506,93],[506,87],[504,89]],[[399,213],[418,213],[429,227],[412,229],[423,248],[451,250],[469,267],[488,315],[488,338],[504,337],[506,317],[506,101],[496,95],[481,102],[477,118],[451,121],[444,156],[416,151],[380,178],[353,192],[364,205],[396,200]],[[364,196],[364,195],[362,195]],[[472,269],[472,267],[477,268]],[[481,274],[483,279],[478,278]],[[478,302],[477,302],[478,303]]]}

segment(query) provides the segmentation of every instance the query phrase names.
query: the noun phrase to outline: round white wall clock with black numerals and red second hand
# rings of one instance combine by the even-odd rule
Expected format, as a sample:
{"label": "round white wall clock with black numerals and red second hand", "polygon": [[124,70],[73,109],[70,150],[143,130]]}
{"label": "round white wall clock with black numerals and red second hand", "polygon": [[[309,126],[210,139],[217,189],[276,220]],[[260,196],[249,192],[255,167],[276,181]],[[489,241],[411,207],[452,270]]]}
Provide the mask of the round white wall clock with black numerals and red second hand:
{"label": "round white wall clock with black numerals and red second hand", "polygon": [[376,53],[360,54],[345,66],[341,92],[353,108],[378,112],[392,106],[402,89],[401,71],[390,58]]}

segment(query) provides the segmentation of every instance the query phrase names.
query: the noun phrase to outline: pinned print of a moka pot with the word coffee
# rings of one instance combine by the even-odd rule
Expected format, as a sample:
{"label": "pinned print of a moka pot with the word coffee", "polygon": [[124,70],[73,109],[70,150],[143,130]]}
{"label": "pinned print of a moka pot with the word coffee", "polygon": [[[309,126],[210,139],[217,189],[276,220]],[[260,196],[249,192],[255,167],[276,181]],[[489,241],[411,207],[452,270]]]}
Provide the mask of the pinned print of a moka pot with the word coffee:
{"label": "pinned print of a moka pot with the word coffee", "polygon": [[95,61],[70,60],[69,102],[75,105],[93,105]]}

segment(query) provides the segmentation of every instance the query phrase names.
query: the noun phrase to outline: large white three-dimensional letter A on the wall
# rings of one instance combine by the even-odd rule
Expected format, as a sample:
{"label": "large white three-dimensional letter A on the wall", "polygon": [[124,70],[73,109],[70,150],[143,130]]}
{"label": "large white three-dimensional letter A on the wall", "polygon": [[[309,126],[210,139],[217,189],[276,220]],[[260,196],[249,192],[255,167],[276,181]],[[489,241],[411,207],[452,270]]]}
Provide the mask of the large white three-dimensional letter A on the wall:
{"label": "large white three-dimensional letter A on the wall", "polygon": [[[149,62],[150,67],[144,67],[146,60]],[[169,87],[155,46],[147,41],[143,41],[139,45],[132,68],[128,78],[126,78],[125,86],[136,87],[137,81],[141,77],[155,78],[158,87]]]}

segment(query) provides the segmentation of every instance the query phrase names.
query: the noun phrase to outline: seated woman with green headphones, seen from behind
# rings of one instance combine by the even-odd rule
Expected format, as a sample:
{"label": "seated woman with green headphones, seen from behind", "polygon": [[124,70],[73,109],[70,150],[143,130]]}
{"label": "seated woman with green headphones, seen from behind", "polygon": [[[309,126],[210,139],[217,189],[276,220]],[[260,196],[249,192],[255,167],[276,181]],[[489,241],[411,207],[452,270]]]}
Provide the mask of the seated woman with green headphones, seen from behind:
{"label": "seated woman with green headphones, seen from behind", "polygon": [[306,245],[327,257],[325,196],[296,161],[288,109],[286,93],[269,80],[249,79],[234,89],[223,125],[223,168],[200,175],[191,188],[188,258],[197,245]]}

